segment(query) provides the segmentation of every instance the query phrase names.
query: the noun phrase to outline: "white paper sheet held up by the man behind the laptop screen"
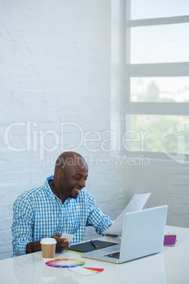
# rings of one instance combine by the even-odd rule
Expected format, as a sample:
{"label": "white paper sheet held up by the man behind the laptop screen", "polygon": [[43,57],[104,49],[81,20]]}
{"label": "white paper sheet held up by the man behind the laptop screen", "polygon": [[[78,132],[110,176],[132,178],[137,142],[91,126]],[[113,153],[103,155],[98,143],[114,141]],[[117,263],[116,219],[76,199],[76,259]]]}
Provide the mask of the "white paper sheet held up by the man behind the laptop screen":
{"label": "white paper sheet held up by the man behind the laptop screen", "polygon": [[151,192],[149,194],[135,194],[126,208],[121,212],[120,215],[118,215],[118,218],[116,218],[114,223],[107,230],[105,230],[104,233],[109,235],[121,235],[125,213],[142,210],[147,202],[147,199],[149,199],[150,194]]}

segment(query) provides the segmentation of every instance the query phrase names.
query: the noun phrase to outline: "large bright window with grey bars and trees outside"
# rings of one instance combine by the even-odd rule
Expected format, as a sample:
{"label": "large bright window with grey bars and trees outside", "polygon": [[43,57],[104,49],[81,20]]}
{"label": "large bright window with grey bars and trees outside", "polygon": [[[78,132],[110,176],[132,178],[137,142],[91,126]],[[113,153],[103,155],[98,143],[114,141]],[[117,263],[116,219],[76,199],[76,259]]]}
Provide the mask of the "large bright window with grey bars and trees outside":
{"label": "large bright window with grey bars and trees outside", "polygon": [[132,155],[156,153],[156,158],[172,160],[180,155],[180,162],[185,162],[189,154],[189,1],[125,3],[127,150]]}

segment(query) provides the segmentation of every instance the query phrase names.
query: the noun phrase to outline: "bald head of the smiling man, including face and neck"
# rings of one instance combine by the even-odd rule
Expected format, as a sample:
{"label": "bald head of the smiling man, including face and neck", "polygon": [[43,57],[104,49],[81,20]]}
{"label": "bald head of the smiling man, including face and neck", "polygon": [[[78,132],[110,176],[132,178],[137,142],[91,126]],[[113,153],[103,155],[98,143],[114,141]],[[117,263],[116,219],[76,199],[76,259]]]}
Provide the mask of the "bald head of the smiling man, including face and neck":
{"label": "bald head of the smiling man, including face and neck", "polygon": [[84,158],[75,152],[62,153],[56,160],[54,186],[59,190],[64,202],[68,198],[76,199],[85,187],[88,166]]}

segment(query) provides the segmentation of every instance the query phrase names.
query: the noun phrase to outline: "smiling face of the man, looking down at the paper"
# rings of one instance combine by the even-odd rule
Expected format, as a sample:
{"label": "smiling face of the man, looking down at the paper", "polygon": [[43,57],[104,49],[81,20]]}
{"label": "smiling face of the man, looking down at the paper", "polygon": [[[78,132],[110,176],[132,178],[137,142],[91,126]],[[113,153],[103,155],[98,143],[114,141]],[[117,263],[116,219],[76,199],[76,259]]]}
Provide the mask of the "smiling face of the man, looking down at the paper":
{"label": "smiling face of the man, looking down at the paper", "polygon": [[63,168],[63,176],[59,183],[63,199],[76,199],[80,190],[85,187],[87,176],[88,167],[84,162],[81,165],[67,165]]}

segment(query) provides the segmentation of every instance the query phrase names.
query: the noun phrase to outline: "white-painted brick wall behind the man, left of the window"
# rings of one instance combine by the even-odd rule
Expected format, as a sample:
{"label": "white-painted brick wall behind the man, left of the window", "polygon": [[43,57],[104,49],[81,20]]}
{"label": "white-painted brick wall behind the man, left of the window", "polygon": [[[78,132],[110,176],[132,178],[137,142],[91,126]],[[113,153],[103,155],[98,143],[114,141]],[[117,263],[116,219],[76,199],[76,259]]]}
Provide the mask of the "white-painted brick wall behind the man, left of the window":
{"label": "white-painted brick wall behind the man, left of the window", "polygon": [[[52,158],[63,149],[79,146],[81,131],[102,134],[110,127],[110,4],[109,0],[0,3],[0,259],[11,256],[16,197],[40,186],[54,172]],[[8,131],[13,122],[21,124]],[[62,130],[65,122],[68,125]],[[93,153],[81,144],[78,152],[90,158]],[[88,146],[100,144],[88,142]],[[28,150],[18,152],[26,147]],[[94,154],[104,155],[101,151]],[[121,169],[117,171],[120,177]],[[115,218],[125,200],[124,182],[117,186],[113,172],[113,167],[93,162],[87,189],[104,213]],[[115,190],[119,192],[117,199]]]}

